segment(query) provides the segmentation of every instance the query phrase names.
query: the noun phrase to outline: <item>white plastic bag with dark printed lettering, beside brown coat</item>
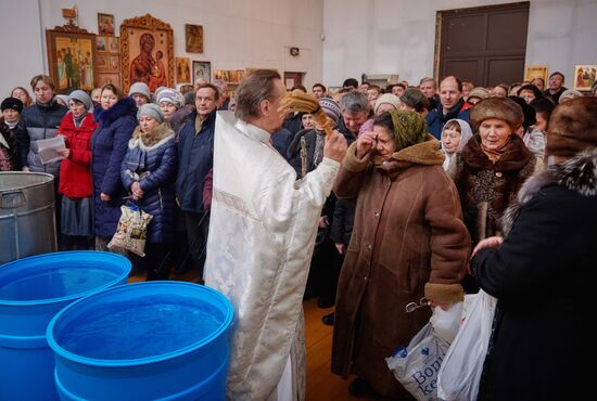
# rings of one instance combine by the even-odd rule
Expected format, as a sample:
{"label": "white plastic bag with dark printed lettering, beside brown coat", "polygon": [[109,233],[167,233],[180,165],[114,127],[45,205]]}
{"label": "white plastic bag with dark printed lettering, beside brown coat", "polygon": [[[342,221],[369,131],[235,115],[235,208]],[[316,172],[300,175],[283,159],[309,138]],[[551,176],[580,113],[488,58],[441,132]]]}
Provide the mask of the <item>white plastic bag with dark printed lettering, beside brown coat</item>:
{"label": "white plastic bag with dark printed lettering, beside brown coat", "polygon": [[410,340],[385,359],[394,377],[419,401],[437,400],[437,372],[449,345],[435,336],[428,323]]}

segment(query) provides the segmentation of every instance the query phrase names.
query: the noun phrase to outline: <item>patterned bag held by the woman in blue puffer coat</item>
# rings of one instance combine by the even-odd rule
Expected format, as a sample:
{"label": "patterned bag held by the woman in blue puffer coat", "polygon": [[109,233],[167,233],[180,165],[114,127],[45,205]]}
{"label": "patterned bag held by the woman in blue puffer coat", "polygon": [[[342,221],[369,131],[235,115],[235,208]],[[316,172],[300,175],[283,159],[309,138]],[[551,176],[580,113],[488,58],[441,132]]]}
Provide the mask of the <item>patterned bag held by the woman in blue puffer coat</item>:
{"label": "patterned bag held by the woman in blue puffer coat", "polygon": [[153,216],[137,206],[120,206],[120,211],[118,228],[107,244],[107,249],[126,249],[141,257],[145,256],[143,249],[148,237],[148,224]]}

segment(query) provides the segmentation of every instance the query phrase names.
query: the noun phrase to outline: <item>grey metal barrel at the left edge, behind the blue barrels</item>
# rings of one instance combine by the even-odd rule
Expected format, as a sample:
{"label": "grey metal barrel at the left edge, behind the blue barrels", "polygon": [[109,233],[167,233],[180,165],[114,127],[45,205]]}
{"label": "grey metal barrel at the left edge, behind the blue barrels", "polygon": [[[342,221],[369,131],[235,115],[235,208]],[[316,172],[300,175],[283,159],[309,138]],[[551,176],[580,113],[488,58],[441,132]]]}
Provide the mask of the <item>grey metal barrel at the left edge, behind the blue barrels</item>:
{"label": "grey metal barrel at the left edge, behind the blue barrels", "polygon": [[56,250],[54,177],[0,172],[0,263]]}

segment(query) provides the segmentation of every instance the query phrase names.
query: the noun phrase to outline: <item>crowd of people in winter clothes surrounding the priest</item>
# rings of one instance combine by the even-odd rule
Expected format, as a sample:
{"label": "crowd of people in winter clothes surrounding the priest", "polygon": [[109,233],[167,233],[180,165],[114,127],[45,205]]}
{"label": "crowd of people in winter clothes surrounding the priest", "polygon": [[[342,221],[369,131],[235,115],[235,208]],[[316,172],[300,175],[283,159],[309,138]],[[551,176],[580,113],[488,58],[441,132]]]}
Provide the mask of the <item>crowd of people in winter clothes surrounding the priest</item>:
{"label": "crowd of people in winter clothes surrounding the priest", "polygon": [[[586,336],[583,314],[574,316],[588,308],[584,277],[597,266],[597,85],[583,94],[561,73],[547,87],[536,78],[482,88],[448,76],[380,88],[351,78],[328,93],[316,83],[310,93],[338,135],[330,145],[309,113],[272,107],[285,93],[279,76],[261,78],[249,75],[230,100],[225,82],[206,81],[182,92],[136,82],[128,93],[110,83],[58,95],[50,77],[35,76],[35,99],[17,87],[1,103],[0,170],[54,176],[61,249],[106,250],[120,206],[134,204],[153,216],[147,256],[127,255],[136,268],[167,280],[189,253],[203,282],[216,112],[230,109],[240,131],[278,152],[283,177],[308,187],[329,170],[300,297],[335,303],[323,316],[334,325],[331,368],[357,376],[353,396],[409,399],[384,358],[431,310],[405,306],[425,297],[446,307],[479,288],[498,298],[480,399],[563,391],[558,371],[573,372],[573,352],[542,363]],[[37,141],[55,135],[64,137],[62,160],[43,164]],[[225,216],[215,214],[219,225]]]}

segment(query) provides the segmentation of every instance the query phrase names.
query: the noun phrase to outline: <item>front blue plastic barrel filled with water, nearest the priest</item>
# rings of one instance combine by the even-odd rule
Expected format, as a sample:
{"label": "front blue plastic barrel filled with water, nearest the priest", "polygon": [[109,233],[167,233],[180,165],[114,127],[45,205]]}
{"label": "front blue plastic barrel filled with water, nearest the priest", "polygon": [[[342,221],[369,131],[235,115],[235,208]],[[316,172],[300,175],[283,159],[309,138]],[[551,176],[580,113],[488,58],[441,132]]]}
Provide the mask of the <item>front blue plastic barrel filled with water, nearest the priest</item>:
{"label": "front blue plastic barrel filled with water, nearest the priest", "polygon": [[233,309],[183,282],[106,289],[48,325],[64,400],[225,400]]}

